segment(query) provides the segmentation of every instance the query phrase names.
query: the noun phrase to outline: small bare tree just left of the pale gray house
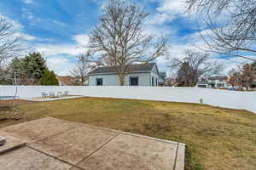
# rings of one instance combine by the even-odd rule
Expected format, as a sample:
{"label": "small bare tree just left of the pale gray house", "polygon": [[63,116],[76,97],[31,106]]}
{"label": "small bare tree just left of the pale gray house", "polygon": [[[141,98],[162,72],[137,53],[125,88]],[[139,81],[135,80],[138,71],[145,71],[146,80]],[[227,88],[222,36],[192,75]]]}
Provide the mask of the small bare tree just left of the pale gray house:
{"label": "small bare tree just left of the pale gray house", "polygon": [[88,73],[90,72],[90,62],[88,62],[85,55],[80,55],[78,57],[78,63],[73,68],[70,73],[73,75],[73,77],[76,77],[79,79],[80,85],[84,85],[84,82],[88,78]]}

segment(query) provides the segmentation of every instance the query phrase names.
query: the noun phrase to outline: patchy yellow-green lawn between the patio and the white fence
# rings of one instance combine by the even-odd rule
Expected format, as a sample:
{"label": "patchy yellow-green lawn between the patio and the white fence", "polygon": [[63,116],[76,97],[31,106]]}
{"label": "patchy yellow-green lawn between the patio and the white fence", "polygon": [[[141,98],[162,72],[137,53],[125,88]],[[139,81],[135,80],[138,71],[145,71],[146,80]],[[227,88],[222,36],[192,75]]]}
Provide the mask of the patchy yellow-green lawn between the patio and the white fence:
{"label": "patchy yellow-green lawn between the patio and the white fence", "polygon": [[20,102],[22,119],[0,127],[51,116],[185,143],[187,170],[256,169],[256,115],[248,111],[135,99]]}

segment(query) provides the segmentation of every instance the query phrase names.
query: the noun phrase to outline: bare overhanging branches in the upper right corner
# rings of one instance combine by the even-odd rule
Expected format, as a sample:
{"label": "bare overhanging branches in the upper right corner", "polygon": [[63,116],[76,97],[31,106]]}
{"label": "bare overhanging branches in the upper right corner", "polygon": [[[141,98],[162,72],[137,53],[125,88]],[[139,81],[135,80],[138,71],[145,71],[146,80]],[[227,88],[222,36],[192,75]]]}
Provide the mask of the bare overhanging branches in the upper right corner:
{"label": "bare overhanging branches in the upper right corner", "polygon": [[[256,0],[187,0],[189,11],[204,14],[208,33],[201,34],[205,50],[256,60]],[[222,23],[213,22],[223,17]]]}

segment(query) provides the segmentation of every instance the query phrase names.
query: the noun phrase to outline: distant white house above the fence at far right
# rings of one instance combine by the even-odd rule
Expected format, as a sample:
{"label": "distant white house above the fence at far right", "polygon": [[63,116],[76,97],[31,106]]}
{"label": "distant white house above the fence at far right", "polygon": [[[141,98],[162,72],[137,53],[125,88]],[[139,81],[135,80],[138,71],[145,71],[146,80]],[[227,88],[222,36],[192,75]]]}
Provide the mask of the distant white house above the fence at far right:
{"label": "distant white house above the fence at far right", "polygon": [[231,88],[229,77],[208,77],[197,83],[198,88]]}

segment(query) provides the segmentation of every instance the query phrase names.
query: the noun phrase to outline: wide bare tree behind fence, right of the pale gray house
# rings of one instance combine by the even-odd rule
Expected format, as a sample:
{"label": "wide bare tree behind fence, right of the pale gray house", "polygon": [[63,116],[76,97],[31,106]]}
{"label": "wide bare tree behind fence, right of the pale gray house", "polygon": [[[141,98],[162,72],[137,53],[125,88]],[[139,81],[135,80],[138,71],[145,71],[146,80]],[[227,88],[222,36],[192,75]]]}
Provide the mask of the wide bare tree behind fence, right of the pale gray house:
{"label": "wide bare tree behind fence, right of the pale gray house", "polygon": [[219,75],[223,65],[218,61],[209,61],[209,54],[185,50],[183,59],[172,58],[170,67],[177,70],[177,82],[182,86],[195,86],[199,78]]}

